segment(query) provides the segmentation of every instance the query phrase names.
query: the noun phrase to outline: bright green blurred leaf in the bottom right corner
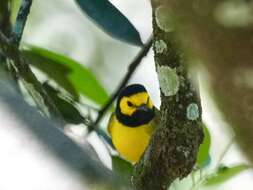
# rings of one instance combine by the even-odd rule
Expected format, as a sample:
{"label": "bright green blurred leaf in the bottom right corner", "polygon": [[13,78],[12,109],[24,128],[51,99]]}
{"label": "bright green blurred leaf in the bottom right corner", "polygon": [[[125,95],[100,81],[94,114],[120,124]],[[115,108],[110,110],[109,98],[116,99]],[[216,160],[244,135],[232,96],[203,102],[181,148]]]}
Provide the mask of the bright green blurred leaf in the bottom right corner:
{"label": "bright green blurred leaf in the bottom right corner", "polygon": [[218,185],[224,183],[249,168],[250,166],[246,164],[240,164],[232,167],[221,166],[214,174],[207,177],[204,185]]}

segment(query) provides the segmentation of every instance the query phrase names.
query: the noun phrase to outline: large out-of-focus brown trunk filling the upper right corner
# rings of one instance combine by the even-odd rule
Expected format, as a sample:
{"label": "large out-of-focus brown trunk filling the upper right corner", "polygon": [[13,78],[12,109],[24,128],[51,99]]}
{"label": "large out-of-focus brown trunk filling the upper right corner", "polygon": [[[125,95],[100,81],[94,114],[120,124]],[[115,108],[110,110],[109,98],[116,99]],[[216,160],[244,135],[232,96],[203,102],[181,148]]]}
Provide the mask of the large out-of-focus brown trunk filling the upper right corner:
{"label": "large out-of-focus brown trunk filling the upper right corner", "polygon": [[[159,1],[159,0],[158,0]],[[253,1],[164,0],[178,20],[177,40],[208,71],[222,116],[253,163]]]}

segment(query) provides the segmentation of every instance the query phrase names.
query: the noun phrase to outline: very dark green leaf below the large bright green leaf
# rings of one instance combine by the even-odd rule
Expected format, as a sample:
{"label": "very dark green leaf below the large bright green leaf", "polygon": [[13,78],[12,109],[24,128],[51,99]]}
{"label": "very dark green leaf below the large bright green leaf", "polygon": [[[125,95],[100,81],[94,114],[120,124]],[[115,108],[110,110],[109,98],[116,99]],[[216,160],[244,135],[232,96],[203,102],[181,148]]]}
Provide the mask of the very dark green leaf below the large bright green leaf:
{"label": "very dark green leaf below the large bright green leaf", "polygon": [[47,94],[52,98],[57,109],[61,113],[64,120],[69,124],[80,124],[83,123],[84,118],[73,105],[73,103],[62,98],[61,92],[50,86],[48,83],[43,83],[43,87]]}

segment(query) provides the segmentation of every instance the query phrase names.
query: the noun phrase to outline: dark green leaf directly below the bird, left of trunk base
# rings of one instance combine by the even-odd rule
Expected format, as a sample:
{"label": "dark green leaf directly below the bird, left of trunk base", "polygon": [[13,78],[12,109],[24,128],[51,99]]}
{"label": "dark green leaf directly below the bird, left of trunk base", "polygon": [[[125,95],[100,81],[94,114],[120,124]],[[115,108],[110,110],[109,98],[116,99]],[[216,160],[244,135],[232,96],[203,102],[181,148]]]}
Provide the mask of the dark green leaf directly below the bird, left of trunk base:
{"label": "dark green leaf directly below the bird, left of trunk base", "polygon": [[112,156],[112,169],[116,175],[130,183],[133,165],[119,156]]}

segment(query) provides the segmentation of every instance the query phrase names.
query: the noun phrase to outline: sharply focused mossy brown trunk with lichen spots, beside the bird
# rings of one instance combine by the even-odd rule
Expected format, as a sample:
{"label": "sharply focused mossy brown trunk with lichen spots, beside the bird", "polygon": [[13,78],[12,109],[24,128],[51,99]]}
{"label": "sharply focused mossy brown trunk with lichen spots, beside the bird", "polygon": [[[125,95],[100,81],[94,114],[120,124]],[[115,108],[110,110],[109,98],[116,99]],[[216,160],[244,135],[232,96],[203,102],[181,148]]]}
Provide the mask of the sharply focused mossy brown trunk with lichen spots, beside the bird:
{"label": "sharply focused mossy brown trunk with lichen spots, beside the bird", "polygon": [[[159,1],[152,2],[154,42],[163,40],[167,47],[162,53],[154,51],[156,68],[158,75],[164,74],[159,72],[160,68],[174,71],[167,72],[168,78],[164,81],[170,81],[168,85],[178,85],[178,89],[173,90],[173,93],[166,93],[161,86],[164,85],[163,82],[159,80],[161,122],[151,138],[149,147],[139,163],[135,165],[132,183],[137,190],[165,190],[175,179],[187,176],[194,167],[199,145],[203,141],[198,89],[188,78],[188,69],[184,64],[186,60],[180,51],[179,43],[173,38],[176,31],[168,32],[157,25],[155,12],[156,8],[161,6],[166,5]],[[172,73],[174,76],[171,76]],[[175,83],[175,80],[171,82],[171,77],[175,78],[175,76],[180,82]],[[189,113],[189,106],[192,111],[191,105],[194,105],[194,113]],[[196,106],[198,113],[196,113]],[[187,117],[189,114],[194,116],[194,119]]]}

